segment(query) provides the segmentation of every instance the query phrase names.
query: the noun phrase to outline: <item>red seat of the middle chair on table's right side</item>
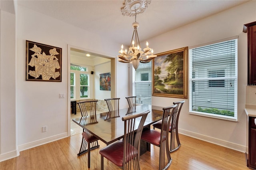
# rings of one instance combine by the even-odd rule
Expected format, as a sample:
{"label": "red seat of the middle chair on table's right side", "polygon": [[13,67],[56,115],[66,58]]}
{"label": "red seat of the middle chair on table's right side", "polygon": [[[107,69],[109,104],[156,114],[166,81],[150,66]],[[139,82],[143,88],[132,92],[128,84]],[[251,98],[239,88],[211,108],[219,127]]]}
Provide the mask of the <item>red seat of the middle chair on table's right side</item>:
{"label": "red seat of the middle chair on table's right side", "polygon": [[149,142],[151,144],[154,144],[156,146],[160,146],[160,138],[161,138],[161,132],[157,130],[145,130],[141,134],[141,139]]}

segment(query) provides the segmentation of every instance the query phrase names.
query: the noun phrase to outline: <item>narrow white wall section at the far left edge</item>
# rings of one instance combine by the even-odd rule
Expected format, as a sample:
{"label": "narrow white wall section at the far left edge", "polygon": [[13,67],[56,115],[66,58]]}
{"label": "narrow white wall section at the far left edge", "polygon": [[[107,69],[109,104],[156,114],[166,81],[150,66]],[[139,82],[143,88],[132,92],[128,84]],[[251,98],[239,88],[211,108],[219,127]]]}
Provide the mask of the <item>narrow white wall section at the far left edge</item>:
{"label": "narrow white wall section at the far left edge", "polygon": [[[1,2],[2,5],[2,2]],[[12,4],[13,5],[13,4]],[[15,15],[0,10],[0,155],[16,154],[16,22]],[[6,159],[7,157],[3,157]]]}

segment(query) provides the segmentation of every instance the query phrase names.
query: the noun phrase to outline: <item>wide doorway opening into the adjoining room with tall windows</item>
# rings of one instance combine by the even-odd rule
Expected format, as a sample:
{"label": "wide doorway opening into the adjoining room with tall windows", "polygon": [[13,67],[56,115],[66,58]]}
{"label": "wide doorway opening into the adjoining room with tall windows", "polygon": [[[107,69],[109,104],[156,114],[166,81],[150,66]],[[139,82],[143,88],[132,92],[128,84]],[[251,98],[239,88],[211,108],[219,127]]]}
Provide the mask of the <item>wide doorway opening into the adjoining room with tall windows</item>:
{"label": "wide doorway opening into the adjoining room with tall windows", "polygon": [[[98,99],[97,113],[108,110],[104,99],[115,96],[115,58],[90,52],[79,47],[69,47],[68,117],[70,136],[82,133],[82,128],[72,119],[81,117],[80,108],[71,107],[74,101]],[[77,67],[77,68],[76,68]],[[100,74],[111,73],[111,90],[100,90]],[[83,81],[82,81],[83,79]],[[84,81],[86,79],[86,81]],[[83,88],[85,90],[83,90]],[[73,109],[73,111],[72,111]],[[76,109],[76,111],[74,111]],[[76,114],[75,114],[76,113]]]}

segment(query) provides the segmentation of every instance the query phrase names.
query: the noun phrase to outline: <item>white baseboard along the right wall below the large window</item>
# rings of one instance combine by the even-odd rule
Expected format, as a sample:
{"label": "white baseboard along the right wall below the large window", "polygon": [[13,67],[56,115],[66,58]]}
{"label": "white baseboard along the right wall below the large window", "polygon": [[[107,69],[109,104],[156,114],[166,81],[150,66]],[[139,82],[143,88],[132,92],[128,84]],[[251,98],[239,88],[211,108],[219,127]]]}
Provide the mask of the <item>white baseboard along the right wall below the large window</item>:
{"label": "white baseboard along the right wall below the large window", "polygon": [[224,146],[226,148],[237,150],[237,151],[240,151],[240,152],[243,152],[243,153],[246,152],[246,146],[244,146],[244,145],[228,142],[226,140],[221,140],[221,139],[218,139],[218,138],[213,138],[211,136],[206,136],[206,135],[198,134],[198,133],[191,132],[191,131],[188,131],[188,130],[183,130],[183,129],[180,129],[180,128],[178,130],[179,130],[180,134],[184,134],[184,135],[190,136],[192,138],[197,138],[197,139],[200,139],[200,140],[204,140],[206,142],[210,142],[210,143],[213,143],[213,144]]}

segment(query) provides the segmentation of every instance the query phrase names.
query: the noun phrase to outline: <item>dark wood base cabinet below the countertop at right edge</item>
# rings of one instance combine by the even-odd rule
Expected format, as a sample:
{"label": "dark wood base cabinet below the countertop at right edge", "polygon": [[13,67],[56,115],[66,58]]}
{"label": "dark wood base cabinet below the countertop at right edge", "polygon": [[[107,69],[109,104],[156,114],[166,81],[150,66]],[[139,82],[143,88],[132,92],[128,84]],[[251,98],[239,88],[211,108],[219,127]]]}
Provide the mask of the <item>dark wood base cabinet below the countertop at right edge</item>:
{"label": "dark wood base cabinet below the countertop at right edge", "polygon": [[248,164],[249,168],[256,169],[256,118],[249,117]]}

